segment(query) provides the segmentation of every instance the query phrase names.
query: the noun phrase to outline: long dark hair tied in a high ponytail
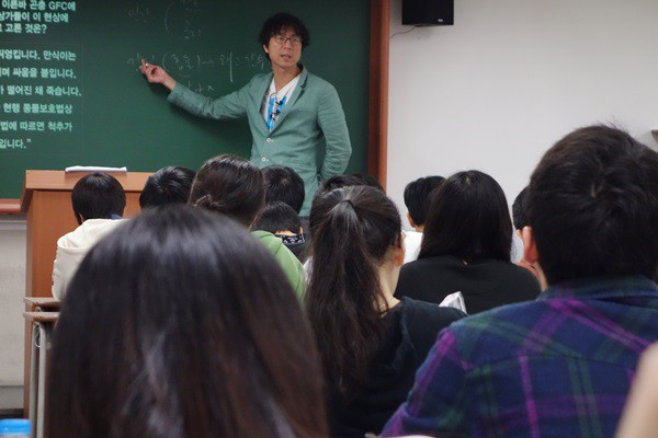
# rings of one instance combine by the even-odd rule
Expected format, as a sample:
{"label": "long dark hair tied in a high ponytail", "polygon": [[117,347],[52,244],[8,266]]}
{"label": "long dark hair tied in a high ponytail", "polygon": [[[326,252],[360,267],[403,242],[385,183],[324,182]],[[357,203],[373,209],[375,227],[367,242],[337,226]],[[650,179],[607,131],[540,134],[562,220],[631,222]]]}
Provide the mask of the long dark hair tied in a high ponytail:
{"label": "long dark hair tied in a high ponytail", "polygon": [[364,383],[386,331],[377,266],[392,246],[401,244],[400,217],[383,192],[355,186],[316,197],[309,219],[307,313],[328,382],[349,399]]}

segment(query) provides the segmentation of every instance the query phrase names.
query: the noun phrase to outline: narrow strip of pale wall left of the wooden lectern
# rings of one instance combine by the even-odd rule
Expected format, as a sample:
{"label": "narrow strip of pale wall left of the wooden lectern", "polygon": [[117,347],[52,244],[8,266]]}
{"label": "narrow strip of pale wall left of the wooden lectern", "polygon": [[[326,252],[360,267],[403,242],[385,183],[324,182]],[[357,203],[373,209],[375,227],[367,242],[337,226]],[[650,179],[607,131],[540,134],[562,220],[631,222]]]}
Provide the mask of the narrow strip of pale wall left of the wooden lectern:
{"label": "narrow strip of pale wall left of the wooden lectern", "polygon": [[0,412],[23,406],[25,220],[0,216]]}

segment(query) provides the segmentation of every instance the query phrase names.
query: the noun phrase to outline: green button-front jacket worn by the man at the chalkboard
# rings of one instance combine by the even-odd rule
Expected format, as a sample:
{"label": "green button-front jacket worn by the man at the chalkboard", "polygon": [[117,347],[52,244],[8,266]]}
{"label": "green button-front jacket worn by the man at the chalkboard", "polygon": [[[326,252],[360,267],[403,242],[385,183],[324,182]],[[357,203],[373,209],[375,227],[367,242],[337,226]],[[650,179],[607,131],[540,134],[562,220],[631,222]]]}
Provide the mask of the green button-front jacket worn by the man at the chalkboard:
{"label": "green button-front jacket worn by the man at the chalkboard", "polygon": [[[197,94],[177,83],[168,101],[200,117],[218,120],[247,116],[251,130],[251,162],[259,168],[293,168],[306,188],[302,216],[308,216],[319,181],[344,172],[352,147],[345,115],[333,85],[302,67],[299,82],[272,131],[261,113],[272,73],[257,74],[240,90],[218,99]],[[318,150],[326,145],[318,169]]]}

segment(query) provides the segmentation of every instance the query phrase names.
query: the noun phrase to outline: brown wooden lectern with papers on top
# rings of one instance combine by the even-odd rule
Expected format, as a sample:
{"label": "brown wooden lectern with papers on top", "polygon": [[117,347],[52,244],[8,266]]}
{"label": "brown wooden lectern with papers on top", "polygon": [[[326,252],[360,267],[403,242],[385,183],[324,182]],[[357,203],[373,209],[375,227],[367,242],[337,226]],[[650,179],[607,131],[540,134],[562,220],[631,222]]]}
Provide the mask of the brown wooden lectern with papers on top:
{"label": "brown wooden lectern with papers on top", "polygon": [[[21,195],[21,212],[27,215],[27,261],[25,263],[25,296],[52,297],[53,263],[57,239],[78,227],[71,206],[73,185],[89,172],[26,171]],[[112,173],[126,192],[128,218],[139,212],[139,194],[147,172]],[[27,312],[33,309],[25,309]],[[23,410],[30,405],[30,359],[32,325],[25,324],[25,365]]]}

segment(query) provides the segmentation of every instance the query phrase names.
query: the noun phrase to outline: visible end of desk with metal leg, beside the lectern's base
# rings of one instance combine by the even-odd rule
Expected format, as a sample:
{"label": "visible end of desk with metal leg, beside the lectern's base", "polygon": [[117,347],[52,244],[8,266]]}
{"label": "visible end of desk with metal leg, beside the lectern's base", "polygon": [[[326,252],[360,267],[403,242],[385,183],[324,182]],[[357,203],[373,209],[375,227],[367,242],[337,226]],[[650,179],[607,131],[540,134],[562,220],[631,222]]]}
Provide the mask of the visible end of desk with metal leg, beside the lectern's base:
{"label": "visible end of desk with metal leg, beside the lectern's base", "polygon": [[32,324],[32,357],[30,359],[32,433],[30,436],[43,438],[48,349],[50,348],[53,327],[59,318],[59,312],[25,312],[23,315]]}

